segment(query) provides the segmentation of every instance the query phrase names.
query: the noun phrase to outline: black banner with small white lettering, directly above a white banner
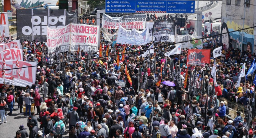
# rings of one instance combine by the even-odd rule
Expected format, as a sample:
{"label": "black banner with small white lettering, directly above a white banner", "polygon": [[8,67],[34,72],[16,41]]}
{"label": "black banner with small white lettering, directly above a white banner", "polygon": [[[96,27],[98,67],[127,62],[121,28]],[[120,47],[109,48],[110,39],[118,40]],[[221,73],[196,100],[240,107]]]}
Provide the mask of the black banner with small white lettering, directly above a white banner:
{"label": "black banner with small white lettering, directly above a white banner", "polygon": [[161,21],[155,21],[154,24],[154,32],[159,31],[166,31],[167,33],[171,35],[175,35],[175,21],[173,20],[161,20]]}

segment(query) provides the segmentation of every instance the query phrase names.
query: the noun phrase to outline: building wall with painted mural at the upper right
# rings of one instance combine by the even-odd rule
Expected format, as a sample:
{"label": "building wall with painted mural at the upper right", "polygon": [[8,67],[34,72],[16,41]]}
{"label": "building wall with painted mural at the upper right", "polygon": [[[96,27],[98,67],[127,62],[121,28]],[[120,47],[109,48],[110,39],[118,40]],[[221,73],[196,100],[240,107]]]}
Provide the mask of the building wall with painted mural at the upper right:
{"label": "building wall with painted mural at the upper right", "polygon": [[[251,5],[249,7],[246,7],[245,9],[245,22],[244,22],[244,28],[253,27],[255,24],[255,15],[256,15],[256,8],[255,5],[256,2],[254,0],[251,0]],[[242,29],[243,25],[243,12],[244,12],[244,5],[243,0],[241,0],[241,4],[235,5],[235,0],[231,1],[231,5],[227,5],[226,1],[222,2],[222,10],[221,10],[221,20],[222,20],[222,26],[221,28],[224,29],[224,26],[227,26],[228,32],[240,30]],[[242,41],[242,31],[237,31],[233,33],[229,33],[230,39],[237,40],[237,43],[241,45]],[[221,37],[222,38],[222,37]],[[229,42],[232,42],[232,40],[229,39]],[[225,40],[222,40],[225,41]],[[256,51],[255,44],[255,30],[252,29],[246,29],[244,30],[244,38],[243,38],[243,44],[249,45],[248,50]],[[239,45],[239,49],[240,49]],[[232,46],[229,44],[229,47]],[[247,47],[244,46],[243,49],[247,49]]]}

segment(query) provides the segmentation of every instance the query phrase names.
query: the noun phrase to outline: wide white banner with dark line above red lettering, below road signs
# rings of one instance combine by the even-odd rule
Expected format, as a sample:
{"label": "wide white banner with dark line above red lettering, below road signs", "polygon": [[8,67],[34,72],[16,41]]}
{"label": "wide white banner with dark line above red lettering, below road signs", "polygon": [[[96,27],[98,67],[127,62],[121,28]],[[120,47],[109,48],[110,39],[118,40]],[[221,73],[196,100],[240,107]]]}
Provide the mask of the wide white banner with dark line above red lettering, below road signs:
{"label": "wide white banner with dark line above red lettering, below road signs", "polygon": [[121,25],[125,29],[145,29],[146,17],[146,14],[111,17],[103,13],[101,28],[118,29],[119,25]]}

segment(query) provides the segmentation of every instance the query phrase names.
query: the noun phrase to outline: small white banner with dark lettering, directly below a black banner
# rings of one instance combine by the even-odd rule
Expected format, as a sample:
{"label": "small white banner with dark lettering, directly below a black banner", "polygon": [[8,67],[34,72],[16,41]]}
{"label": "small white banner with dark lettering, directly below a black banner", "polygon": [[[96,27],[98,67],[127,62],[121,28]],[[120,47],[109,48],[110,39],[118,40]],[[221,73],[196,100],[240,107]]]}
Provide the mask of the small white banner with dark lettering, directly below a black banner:
{"label": "small white banner with dark lettering, directly below a black banner", "polygon": [[167,33],[166,31],[163,32],[155,32],[153,34],[153,41],[155,42],[174,42],[175,41],[175,35],[171,35]]}

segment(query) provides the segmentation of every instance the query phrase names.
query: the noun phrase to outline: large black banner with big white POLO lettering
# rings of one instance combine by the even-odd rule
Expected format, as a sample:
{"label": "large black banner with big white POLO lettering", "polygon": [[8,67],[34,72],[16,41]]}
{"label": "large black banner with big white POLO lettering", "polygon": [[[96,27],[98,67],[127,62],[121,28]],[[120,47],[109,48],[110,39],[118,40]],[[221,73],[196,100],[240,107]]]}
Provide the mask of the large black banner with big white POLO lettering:
{"label": "large black banner with big white POLO lettering", "polygon": [[[67,10],[17,10],[17,37],[21,40],[46,41],[47,26],[60,28],[69,23],[78,23],[77,12]],[[33,33],[32,33],[33,32]]]}

